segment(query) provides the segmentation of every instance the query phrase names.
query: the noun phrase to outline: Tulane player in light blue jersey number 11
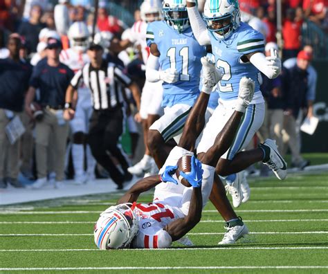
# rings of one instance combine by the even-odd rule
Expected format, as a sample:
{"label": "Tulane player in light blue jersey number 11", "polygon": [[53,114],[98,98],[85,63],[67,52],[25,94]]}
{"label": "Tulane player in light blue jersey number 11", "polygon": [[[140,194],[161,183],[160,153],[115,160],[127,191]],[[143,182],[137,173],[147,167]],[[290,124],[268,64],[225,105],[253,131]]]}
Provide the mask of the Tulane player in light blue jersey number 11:
{"label": "Tulane player in light blue jersey number 11", "polygon": [[199,45],[190,28],[185,0],[163,1],[164,21],[154,21],[147,28],[146,77],[149,82],[163,80],[164,116],[149,128],[148,147],[161,168],[167,158],[163,149],[167,140],[179,142],[185,120],[199,96],[201,57],[205,46]]}

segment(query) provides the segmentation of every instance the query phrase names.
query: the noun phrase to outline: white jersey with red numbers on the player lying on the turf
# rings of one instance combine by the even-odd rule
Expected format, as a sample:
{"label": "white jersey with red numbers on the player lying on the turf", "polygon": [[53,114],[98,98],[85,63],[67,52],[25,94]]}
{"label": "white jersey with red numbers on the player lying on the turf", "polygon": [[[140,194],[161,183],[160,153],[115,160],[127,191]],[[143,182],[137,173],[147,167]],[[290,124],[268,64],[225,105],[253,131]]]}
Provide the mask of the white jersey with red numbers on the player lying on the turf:
{"label": "white jersey with red numbers on the player lying on the turf", "polygon": [[163,203],[136,203],[134,212],[140,216],[140,222],[138,234],[132,241],[133,248],[170,247],[172,238],[163,228],[185,217],[179,208]]}

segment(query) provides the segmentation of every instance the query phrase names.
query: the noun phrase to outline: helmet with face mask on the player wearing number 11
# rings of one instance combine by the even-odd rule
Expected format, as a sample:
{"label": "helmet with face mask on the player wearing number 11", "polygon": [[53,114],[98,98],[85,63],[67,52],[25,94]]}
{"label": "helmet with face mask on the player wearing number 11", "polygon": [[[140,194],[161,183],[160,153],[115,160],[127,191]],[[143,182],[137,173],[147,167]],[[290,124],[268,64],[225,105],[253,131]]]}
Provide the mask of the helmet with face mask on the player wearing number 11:
{"label": "helmet with face mask on the player wearing number 11", "polygon": [[190,26],[188,12],[185,1],[174,4],[172,0],[163,1],[164,19],[169,26],[182,33]]}

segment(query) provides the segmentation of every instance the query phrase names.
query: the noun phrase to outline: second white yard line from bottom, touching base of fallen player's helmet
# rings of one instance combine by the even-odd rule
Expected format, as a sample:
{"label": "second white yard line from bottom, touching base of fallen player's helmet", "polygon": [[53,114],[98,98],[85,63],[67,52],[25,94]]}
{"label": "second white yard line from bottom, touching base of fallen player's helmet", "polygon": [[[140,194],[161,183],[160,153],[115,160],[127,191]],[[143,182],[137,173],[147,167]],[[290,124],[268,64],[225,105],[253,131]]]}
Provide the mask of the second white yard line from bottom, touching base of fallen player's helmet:
{"label": "second white yard line from bottom, touching base of fallen player's helmet", "polygon": [[[328,246],[277,246],[277,247],[209,247],[209,248],[196,248],[196,247],[188,247],[188,248],[156,248],[156,249],[125,249],[125,251],[144,251],[144,250],[309,250],[309,249],[328,249]],[[80,248],[80,249],[0,249],[0,252],[79,252],[79,251],[100,251],[100,252],[108,252],[96,248]]]}

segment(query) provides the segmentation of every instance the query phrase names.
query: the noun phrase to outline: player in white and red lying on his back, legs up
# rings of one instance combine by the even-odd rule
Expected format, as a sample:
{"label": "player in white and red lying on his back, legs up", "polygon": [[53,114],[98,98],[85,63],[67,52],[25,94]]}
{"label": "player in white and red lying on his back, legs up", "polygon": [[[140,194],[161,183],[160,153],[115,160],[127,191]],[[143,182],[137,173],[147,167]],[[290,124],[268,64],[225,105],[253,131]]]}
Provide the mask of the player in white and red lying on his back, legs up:
{"label": "player in white and red lying on his back, legs up", "polygon": [[[180,176],[177,183],[174,179],[178,169],[176,163],[181,162],[185,154],[191,156],[190,150],[194,149],[195,141],[205,123],[204,117],[210,97],[208,93],[219,78],[213,64],[209,64],[206,59],[203,59],[203,63],[205,92],[199,95],[197,103],[190,111],[179,145],[172,149],[164,170],[161,170],[163,174],[138,181],[118,201],[118,206],[107,208],[100,214],[94,230],[98,248],[167,248],[172,241],[181,239],[199,223],[201,211],[212,190],[217,160],[231,145],[247,102],[250,102],[254,93],[254,82],[242,78],[236,111],[217,135],[215,144],[203,155],[203,163],[199,163],[192,156],[190,174],[183,173],[185,167],[179,167],[180,176],[188,181],[192,188],[182,185],[188,183]],[[141,193],[157,185],[163,185],[163,188],[156,189],[152,203],[136,203]],[[170,195],[167,196],[167,193]],[[246,226],[244,228],[247,230]]]}

